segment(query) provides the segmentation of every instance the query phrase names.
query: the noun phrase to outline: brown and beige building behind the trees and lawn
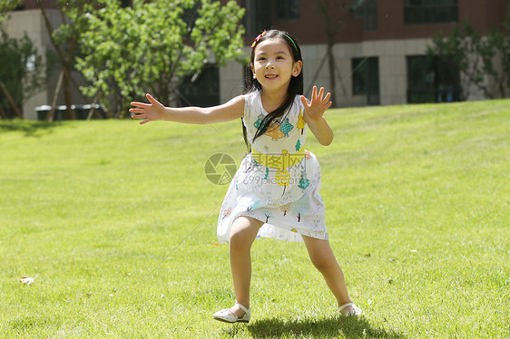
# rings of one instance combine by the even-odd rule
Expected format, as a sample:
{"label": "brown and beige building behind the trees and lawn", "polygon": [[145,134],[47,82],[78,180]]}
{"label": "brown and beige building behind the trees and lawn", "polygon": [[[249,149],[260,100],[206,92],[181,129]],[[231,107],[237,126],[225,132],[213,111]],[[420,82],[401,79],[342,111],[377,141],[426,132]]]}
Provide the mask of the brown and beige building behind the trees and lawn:
{"label": "brown and beige building behind the trees and lawn", "polygon": [[[227,0],[221,0],[225,3]],[[449,34],[453,24],[465,19],[478,32],[487,33],[508,13],[510,0],[351,0],[354,5],[329,5],[320,12],[319,0],[237,0],[246,8],[246,52],[253,38],[263,29],[278,28],[294,36],[304,58],[305,94],[312,85],[324,86],[336,95],[336,106],[404,104],[407,102],[448,102],[456,100],[459,74],[444,65],[425,63],[427,44],[439,32]],[[348,3],[330,1],[329,3]],[[62,16],[52,0],[42,0],[54,26]],[[129,5],[129,0],[123,0]],[[341,26],[329,36],[331,27]],[[44,19],[35,0],[26,0],[11,15],[7,29],[11,36],[26,32],[40,53],[52,48]],[[329,76],[328,42],[336,70],[334,88]],[[226,102],[242,92],[246,68],[230,62],[220,69],[210,67],[190,91],[183,91],[184,102],[196,105]],[[79,78],[79,74],[75,74]],[[48,80],[48,90],[24,105],[25,117],[35,119],[34,107],[51,102],[58,74]],[[204,95],[206,93],[206,95]],[[83,102],[74,93],[76,103]],[[469,100],[483,99],[473,92]],[[60,101],[59,103],[61,103]]]}

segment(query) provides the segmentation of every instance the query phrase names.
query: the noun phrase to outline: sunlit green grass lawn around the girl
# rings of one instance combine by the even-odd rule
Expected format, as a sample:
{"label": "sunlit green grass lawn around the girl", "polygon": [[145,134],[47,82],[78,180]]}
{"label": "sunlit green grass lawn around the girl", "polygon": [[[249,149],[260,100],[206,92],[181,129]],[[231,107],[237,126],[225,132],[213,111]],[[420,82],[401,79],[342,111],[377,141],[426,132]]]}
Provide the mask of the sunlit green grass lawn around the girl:
{"label": "sunlit green grass lawn around the girl", "polygon": [[366,316],[336,315],[302,244],[262,239],[252,321],[212,320],[234,297],[203,168],[240,163],[239,121],[0,121],[0,337],[510,337],[510,101],[327,118],[307,149]]}

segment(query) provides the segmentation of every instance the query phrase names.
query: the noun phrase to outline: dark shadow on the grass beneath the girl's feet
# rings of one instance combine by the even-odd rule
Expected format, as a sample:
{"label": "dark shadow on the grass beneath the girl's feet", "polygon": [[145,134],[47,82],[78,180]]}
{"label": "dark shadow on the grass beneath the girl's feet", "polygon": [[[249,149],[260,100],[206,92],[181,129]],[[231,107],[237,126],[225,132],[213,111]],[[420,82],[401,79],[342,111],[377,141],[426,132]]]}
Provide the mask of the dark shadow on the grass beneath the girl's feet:
{"label": "dark shadow on the grass beneath the girl's feet", "polygon": [[[226,334],[235,337],[242,331],[234,325]],[[404,334],[385,328],[373,327],[364,317],[331,316],[324,319],[302,319],[283,321],[280,319],[262,319],[245,326],[243,332],[254,338],[280,337],[317,337],[317,338],[404,338]]]}

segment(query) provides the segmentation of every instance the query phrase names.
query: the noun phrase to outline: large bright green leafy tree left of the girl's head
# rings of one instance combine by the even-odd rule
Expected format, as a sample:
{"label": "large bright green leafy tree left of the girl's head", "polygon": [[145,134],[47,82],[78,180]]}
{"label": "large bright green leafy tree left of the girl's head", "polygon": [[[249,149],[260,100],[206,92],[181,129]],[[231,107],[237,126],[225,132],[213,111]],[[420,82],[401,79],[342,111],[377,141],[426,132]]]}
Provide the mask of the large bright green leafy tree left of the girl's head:
{"label": "large bright green leafy tree left of the girl's head", "polygon": [[221,6],[211,0],[134,0],[122,8],[117,1],[88,14],[82,35],[83,56],[77,69],[90,83],[83,92],[98,96],[115,111],[127,111],[132,99],[151,91],[163,103],[178,102],[186,76],[201,72],[211,55],[215,63],[240,60],[244,10],[234,1]]}

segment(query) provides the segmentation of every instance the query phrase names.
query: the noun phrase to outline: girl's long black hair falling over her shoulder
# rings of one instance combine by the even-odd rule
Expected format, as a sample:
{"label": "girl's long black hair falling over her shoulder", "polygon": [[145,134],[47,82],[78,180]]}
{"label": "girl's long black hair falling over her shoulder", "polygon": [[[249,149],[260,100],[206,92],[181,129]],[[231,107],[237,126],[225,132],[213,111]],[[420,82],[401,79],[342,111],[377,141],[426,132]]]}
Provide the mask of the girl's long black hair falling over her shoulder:
{"label": "girl's long black hair falling over her shoulder", "polygon": [[[266,32],[266,31],[264,31],[264,32]],[[301,50],[299,48],[298,42],[296,41],[296,39],[291,37],[287,32],[273,29],[273,30],[267,31],[263,35],[259,35],[259,37],[256,39],[255,43],[253,43],[253,45],[252,45],[250,64],[248,64],[248,66],[247,66],[248,68],[246,70],[246,84],[247,84],[246,92],[247,93],[260,91],[260,89],[262,88],[262,86],[260,85],[260,82],[257,79],[253,78],[253,74],[251,71],[251,65],[253,65],[253,63],[254,63],[255,49],[257,48],[257,45],[260,44],[261,42],[263,42],[264,40],[274,39],[277,37],[282,39],[284,42],[286,42],[288,44],[294,63],[297,63],[298,61],[300,61],[301,63],[303,62],[303,59],[301,57]],[[271,111],[268,115],[266,115],[264,117],[264,119],[261,121],[260,126],[259,126],[257,132],[255,133],[253,140],[251,140],[251,142],[253,142],[257,138],[259,138],[261,135],[263,135],[266,131],[268,131],[268,128],[270,127],[271,122],[280,120],[280,118],[283,117],[283,115],[287,111],[289,111],[292,104],[294,103],[294,99],[296,98],[296,95],[303,94],[303,82],[304,82],[303,81],[303,70],[301,68],[301,72],[299,73],[298,76],[292,76],[290,78],[289,89],[287,90],[287,98],[285,98],[285,100],[280,104],[280,107],[278,107],[274,111]],[[250,142],[248,141],[246,126],[244,126],[244,123],[242,123],[242,135],[244,137],[244,142],[246,143],[246,147],[250,151],[251,150]]]}

